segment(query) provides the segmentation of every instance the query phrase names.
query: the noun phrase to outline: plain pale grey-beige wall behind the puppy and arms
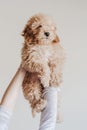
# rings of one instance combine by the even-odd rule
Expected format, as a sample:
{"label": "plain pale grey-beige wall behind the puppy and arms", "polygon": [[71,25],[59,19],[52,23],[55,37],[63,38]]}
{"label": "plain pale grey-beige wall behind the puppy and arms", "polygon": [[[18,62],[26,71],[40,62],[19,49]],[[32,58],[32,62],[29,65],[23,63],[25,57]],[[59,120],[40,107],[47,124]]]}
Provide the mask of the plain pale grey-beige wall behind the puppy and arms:
{"label": "plain pale grey-beige wall behind the puppy and arms", "polygon": [[[0,0],[0,98],[21,62],[21,32],[38,12],[53,17],[66,50],[63,82],[64,122],[56,130],[87,129],[87,1]],[[9,130],[38,130],[22,91]]]}

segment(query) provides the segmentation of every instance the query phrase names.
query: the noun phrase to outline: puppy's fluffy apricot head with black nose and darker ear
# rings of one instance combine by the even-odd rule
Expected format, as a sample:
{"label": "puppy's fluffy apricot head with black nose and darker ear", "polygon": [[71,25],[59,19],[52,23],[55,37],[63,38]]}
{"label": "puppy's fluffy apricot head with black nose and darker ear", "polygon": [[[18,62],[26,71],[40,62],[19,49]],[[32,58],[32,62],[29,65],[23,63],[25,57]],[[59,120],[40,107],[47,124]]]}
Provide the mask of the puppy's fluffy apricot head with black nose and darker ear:
{"label": "puppy's fluffy apricot head with black nose and darker ear", "polygon": [[59,42],[54,22],[44,14],[34,15],[27,22],[22,36],[27,44],[48,45]]}

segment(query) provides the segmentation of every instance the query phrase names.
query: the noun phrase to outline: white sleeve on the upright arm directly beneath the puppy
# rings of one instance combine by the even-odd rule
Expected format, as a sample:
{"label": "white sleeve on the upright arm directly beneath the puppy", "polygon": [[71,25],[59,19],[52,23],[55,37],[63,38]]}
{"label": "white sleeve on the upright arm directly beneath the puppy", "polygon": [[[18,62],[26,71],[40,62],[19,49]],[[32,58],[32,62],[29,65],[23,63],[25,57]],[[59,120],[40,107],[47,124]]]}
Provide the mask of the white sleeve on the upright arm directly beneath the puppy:
{"label": "white sleeve on the upright arm directly beneath the puppy", "polygon": [[58,88],[47,87],[44,89],[43,97],[47,105],[41,112],[39,130],[55,130],[57,117]]}

